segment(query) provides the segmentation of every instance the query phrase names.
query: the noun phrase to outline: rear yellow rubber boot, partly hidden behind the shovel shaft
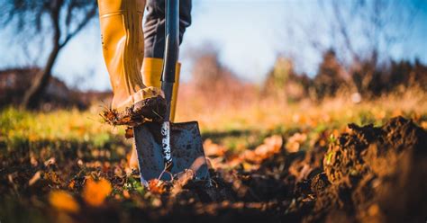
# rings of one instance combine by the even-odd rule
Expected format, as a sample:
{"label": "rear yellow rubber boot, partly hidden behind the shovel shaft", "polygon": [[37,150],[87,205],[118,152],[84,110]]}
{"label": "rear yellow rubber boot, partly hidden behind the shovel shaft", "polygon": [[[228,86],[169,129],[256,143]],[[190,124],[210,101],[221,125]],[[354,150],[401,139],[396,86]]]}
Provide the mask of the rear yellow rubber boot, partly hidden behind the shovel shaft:
{"label": "rear yellow rubber boot, partly hidden behind the shovel shaft", "polygon": [[[146,86],[161,87],[161,72],[163,69],[163,59],[161,58],[144,58],[142,63],[141,74],[142,82]],[[175,113],[177,111],[177,94],[179,88],[179,75],[181,64],[177,63],[177,71],[175,73],[175,83],[172,92],[172,101],[170,104],[170,120],[175,121]]]}

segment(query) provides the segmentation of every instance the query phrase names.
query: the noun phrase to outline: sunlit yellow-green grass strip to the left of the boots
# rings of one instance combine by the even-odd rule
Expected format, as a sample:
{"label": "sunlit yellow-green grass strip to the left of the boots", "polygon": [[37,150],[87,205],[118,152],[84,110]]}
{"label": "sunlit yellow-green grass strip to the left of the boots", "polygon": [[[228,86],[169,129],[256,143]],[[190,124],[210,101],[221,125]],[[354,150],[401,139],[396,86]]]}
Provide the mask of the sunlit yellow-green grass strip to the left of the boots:
{"label": "sunlit yellow-green grass strip to the left of the boots", "polygon": [[81,140],[99,147],[112,136],[120,134],[104,125],[95,112],[77,110],[44,113],[8,108],[0,114],[0,125],[0,132],[6,139]]}

